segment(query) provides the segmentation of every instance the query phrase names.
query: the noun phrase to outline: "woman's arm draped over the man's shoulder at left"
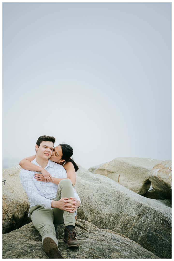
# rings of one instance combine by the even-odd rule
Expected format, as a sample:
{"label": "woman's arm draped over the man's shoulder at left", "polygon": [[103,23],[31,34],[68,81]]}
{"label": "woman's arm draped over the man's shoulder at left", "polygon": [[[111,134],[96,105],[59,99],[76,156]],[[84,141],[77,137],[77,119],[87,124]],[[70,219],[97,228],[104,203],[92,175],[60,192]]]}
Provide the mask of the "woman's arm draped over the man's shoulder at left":
{"label": "woman's arm draped over the man's shoulder at left", "polygon": [[22,159],[19,162],[19,165],[21,166],[22,169],[41,172],[42,175],[44,176],[44,181],[49,182],[50,178],[53,179],[53,177],[50,175],[50,173],[48,171],[46,171],[45,169],[31,163],[31,161],[33,161],[35,159],[35,157],[36,157],[36,155],[33,155],[33,156],[27,157],[25,159]]}

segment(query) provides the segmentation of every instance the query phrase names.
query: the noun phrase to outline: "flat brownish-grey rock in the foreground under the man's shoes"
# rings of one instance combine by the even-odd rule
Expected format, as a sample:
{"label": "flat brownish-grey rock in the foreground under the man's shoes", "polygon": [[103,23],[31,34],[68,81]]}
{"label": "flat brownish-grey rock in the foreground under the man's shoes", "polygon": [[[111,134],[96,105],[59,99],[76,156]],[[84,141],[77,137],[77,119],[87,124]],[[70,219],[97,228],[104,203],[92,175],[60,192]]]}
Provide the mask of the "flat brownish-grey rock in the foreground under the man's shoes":
{"label": "flat brownish-grey rock in the foreground under the man's shoes", "polygon": [[[63,242],[64,224],[55,225],[55,229],[64,258],[159,258],[124,235],[80,219],[75,228],[79,247],[69,248]],[[32,222],[3,235],[3,258],[48,258]]]}

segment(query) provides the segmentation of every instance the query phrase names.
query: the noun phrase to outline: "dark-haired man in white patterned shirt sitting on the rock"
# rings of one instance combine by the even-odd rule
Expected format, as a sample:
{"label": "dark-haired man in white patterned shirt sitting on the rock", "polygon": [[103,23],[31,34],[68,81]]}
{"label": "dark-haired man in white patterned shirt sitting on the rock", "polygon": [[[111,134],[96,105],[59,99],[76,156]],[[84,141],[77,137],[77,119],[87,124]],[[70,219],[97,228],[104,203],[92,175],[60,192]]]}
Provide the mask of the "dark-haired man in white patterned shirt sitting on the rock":
{"label": "dark-haired man in white patterned shirt sitting on the rock", "polygon": [[[40,136],[37,140],[35,150],[36,158],[33,164],[47,170],[51,176],[61,178],[59,185],[52,182],[38,182],[34,179],[36,171],[21,169],[20,180],[25,189],[30,203],[29,214],[35,228],[42,236],[43,248],[50,258],[63,258],[58,249],[55,227],[53,223],[64,222],[64,241],[68,247],[79,246],[75,238],[74,207],[80,207],[80,198],[73,183],[67,179],[65,169],[53,162],[49,158],[52,155],[55,138],[50,136]],[[37,172],[39,173],[39,172]],[[70,198],[76,197],[77,203]],[[69,199],[69,200],[68,200]],[[68,205],[65,205],[68,203]]]}

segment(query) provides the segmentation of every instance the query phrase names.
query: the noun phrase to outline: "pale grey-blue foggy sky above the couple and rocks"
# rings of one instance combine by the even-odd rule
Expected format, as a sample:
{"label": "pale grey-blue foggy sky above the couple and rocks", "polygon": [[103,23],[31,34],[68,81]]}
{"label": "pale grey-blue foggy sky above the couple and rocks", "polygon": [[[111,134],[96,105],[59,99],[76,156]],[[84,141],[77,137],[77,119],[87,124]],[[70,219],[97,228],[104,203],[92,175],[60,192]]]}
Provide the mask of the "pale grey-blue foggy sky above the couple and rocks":
{"label": "pale grey-blue foggy sky above the couple and rocks", "polygon": [[87,169],[171,159],[171,3],[3,3],[3,168],[41,135]]}

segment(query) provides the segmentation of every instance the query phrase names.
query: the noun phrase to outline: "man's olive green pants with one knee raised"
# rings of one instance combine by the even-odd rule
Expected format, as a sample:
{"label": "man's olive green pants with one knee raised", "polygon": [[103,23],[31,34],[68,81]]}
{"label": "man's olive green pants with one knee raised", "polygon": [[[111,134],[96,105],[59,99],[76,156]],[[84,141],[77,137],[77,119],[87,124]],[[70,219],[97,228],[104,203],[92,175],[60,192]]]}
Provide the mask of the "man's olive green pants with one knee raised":
{"label": "man's olive green pants with one knee raised", "polygon": [[[73,183],[69,179],[63,179],[59,182],[54,200],[70,197],[74,197]],[[44,207],[36,205],[30,208],[30,215],[33,225],[42,236],[42,242],[44,238],[50,237],[58,245],[54,224],[64,222],[64,226],[75,226],[74,212],[70,213],[56,207],[53,209],[45,209]]]}

